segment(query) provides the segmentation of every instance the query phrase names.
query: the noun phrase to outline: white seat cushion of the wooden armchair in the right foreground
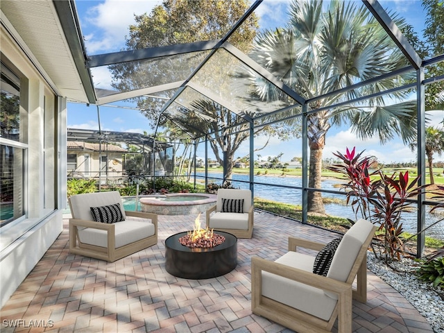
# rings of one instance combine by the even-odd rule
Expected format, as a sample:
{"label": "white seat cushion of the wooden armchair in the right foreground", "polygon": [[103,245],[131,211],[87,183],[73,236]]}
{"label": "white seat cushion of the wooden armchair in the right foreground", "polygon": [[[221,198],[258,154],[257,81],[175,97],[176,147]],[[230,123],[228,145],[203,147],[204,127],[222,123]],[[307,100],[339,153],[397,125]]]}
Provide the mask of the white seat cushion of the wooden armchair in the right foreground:
{"label": "white seat cushion of the wooden armchair in the right foreground", "polygon": [[[275,262],[311,273],[314,257],[290,251]],[[337,302],[337,300],[325,295],[323,289],[311,287],[268,272],[262,272],[262,295],[326,321],[332,316]]]}

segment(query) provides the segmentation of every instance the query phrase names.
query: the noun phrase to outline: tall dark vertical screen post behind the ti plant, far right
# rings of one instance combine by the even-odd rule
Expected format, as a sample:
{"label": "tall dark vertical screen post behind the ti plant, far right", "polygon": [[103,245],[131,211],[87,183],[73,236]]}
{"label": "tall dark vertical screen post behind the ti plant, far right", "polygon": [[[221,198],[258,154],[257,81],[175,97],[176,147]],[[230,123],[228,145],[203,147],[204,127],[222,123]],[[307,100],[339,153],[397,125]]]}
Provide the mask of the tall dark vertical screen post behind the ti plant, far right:
{"label": "tall dark vertical screen post behind the ti plant, far right", "polygon": [[[424,81],[424,67],[420,67],[416,71],[416,117],[418,117],[417,137],[418,137],[418,175],[421,177],[418,180],[418,185],[425,185],[425,86]],[[418,223],[417,232],[425,229],[425,193],[421,191],[418,194]],[[425,232],[418,234],[416,239],[416,257],[422,257],[422,252],[425,246]]]}

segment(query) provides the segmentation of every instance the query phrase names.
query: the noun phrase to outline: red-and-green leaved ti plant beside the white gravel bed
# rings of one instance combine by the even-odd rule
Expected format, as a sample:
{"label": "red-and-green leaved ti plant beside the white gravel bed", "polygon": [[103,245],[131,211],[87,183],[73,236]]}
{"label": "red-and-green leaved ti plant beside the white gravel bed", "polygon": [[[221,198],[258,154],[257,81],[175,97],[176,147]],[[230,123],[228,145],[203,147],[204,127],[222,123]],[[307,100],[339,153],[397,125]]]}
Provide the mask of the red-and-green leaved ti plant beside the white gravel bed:
{"label": "red-and-green leaved ti plant beside the white gravel bed", "polygon": [[[385,259],[400,259],[403,252],[402,213],[413,209],[415,196],[424,187],[418,187],[419,177],[409,181],[409,171],[393,173],[386,176],[380,169],[369,172],[372,164],[370,157],[361,157],[361,153],[355,155],[355,148],[350,152],[347,148],[345,155],[337,152],[334,154],[342,161],[342,164],[334,164],[328,169],[342,173],[348,178],[343,185],[347,191],[347,203],[350,203],[356,218],[359,213],[363,219],[367,219],[379,225],[378,236],[382,253]],[[378,255],[375,253],[375,255]]]}

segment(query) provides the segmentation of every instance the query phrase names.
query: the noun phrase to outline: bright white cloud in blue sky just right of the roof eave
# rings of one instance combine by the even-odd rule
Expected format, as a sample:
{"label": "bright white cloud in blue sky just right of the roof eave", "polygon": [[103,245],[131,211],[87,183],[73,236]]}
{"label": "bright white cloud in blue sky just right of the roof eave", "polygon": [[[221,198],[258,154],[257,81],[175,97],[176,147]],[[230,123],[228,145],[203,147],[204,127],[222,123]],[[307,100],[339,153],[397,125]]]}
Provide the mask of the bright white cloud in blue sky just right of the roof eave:
{"label": "bright white cloud in blue sky just right of the roof eave", "polygon": [[88,54],[121,51],[128,26],[135,24],[134,15],[149,14],[160,3],[160,0],[105,0],[89,8],[83,22],[87,28],[84,33]]}

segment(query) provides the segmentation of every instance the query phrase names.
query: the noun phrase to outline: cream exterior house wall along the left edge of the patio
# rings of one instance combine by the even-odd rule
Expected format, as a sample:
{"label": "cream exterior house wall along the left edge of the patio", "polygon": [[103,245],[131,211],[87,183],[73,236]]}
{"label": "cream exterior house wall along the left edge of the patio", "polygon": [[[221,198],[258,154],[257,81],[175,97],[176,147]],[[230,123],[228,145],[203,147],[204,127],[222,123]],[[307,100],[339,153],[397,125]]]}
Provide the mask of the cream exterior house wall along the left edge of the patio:
{"label": "cream exterior house wall along the left edge of the patio", "polygon": [[61,165],[60,156],[66,155],[67,111],[66,100],[53,92],[17,45],[19,36],[12,37],[3,25],[0,32],[1,61],[20,78],[20,139],[0,138],[0,144],[21,152],[14,161],[22,169],[15,170],[14,177],[19,178],[22,186],[14,189],[13,196],[14,202],[23,203],[20,216],[0,228],[0,306],[3,307],[62,232],[66,167]]}

